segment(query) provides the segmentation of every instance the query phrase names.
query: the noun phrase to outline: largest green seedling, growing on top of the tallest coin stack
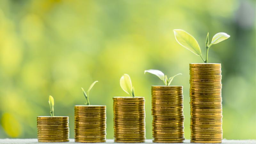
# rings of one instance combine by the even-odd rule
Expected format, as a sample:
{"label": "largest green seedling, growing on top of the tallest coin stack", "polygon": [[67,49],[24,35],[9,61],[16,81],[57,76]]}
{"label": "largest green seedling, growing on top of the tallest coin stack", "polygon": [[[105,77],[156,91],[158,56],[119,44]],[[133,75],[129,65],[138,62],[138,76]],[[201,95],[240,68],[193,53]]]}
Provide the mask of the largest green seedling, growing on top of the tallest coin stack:
{"label": "largest green seedling, growing on top of the tallest coin stack", "polygon": [[209,48],[213,44],[218,44],[230,37],[228,34],[220,32],[220,33],[215,34],[212,37],[212,42],[209,44],[209,42],[210,42],[209,41],[209,33],[207,33],[206,40],[205,40],[206,53],[205,53],[205,60],[204,60],[204,58],[202,57],[200,46],[193,36],[191,36],[189,33],[187,33],[186,31],[184,31],[182,29],[174,29],[173,32],[174,32],[176,41],[181,46],[185,47],[186,49],[193,52],[197,56],[200,56],[201,59],[204,61],[204,63],[208,62]]}

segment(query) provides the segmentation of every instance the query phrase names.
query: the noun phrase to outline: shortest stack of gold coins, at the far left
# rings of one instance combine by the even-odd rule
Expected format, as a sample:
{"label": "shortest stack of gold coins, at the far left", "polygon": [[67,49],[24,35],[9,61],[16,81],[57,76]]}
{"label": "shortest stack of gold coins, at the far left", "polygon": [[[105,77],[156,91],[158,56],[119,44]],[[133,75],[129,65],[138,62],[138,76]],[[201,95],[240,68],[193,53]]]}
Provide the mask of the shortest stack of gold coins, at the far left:
{"label": "shortest stack of gold coins, at the far left", "polygon": [[38,142],[68,142],[68,116],[38,116]]}

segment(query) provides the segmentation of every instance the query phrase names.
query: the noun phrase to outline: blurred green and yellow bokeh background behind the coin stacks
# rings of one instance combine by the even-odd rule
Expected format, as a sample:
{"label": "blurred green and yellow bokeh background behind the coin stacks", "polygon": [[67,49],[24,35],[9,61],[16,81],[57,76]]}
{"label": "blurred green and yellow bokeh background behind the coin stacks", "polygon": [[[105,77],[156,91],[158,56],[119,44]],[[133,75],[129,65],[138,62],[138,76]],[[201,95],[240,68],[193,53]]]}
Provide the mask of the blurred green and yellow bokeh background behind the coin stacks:
{"label": "blurred green and yellow bokeh background behind the coin stacks", "polygon": [[107,105],[107,138],[113,138],[112,97],[127,96],[119,79],[131,76],[135,95],[146,99],[151,132],[151,85],[145,69],[177,76],[184,87],[185,138],[190,138],[189,63],[200,57],[181,47],[172,30],[193,35],[205,53],[205,37],[231,37],[213,45],[209,62],[222,64],[223,138],[256,139],[254,0],[2,0],[0,1],[0,138],[36,138],[36,116],[69,116],[74,105]]}

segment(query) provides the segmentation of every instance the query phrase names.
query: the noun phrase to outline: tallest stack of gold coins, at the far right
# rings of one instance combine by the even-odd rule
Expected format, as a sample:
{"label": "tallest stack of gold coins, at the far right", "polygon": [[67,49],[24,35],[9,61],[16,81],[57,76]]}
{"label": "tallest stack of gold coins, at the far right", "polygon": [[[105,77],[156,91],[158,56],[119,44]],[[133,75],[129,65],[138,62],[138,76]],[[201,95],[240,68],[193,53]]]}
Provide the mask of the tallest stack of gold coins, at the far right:
{"label": "tallest stack of gold coins, at the far right", "polygon": [[222,142],[221,65],[190,64],[192,143]]}

